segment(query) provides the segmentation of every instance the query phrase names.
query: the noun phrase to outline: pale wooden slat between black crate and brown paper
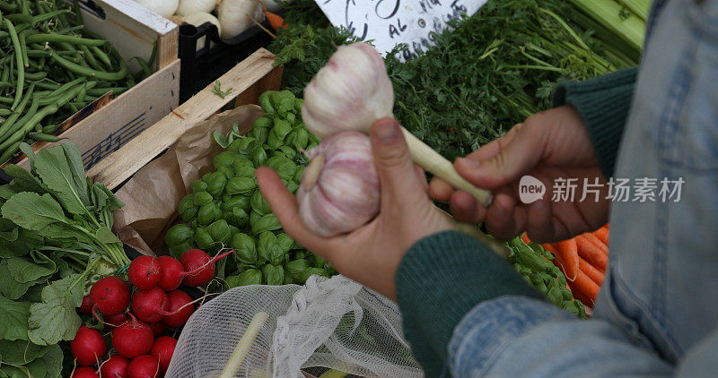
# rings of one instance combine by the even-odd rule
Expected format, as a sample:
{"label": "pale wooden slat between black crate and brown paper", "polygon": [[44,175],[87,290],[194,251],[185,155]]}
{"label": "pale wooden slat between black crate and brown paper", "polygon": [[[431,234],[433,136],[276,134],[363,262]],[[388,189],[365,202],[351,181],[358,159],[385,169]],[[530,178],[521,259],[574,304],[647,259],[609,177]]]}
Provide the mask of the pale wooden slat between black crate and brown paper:
{"label": "pale wooden slat between black crate and brown paper", "polygon": [[212,116],[237,95],[248,90],[267,74],[279,69],[273,65],[274,59],[274,54],[264,48],[258,49],[219,79],[223,90],[232,88],[231,96],[222,99],[212,92],[215,88],[214,83],[207,86],[174,109],[171,114],[102,159],[88,171],[88,176],[104,183],[110,190],[117,188],[138,169],[177,141],[189,125]]}

